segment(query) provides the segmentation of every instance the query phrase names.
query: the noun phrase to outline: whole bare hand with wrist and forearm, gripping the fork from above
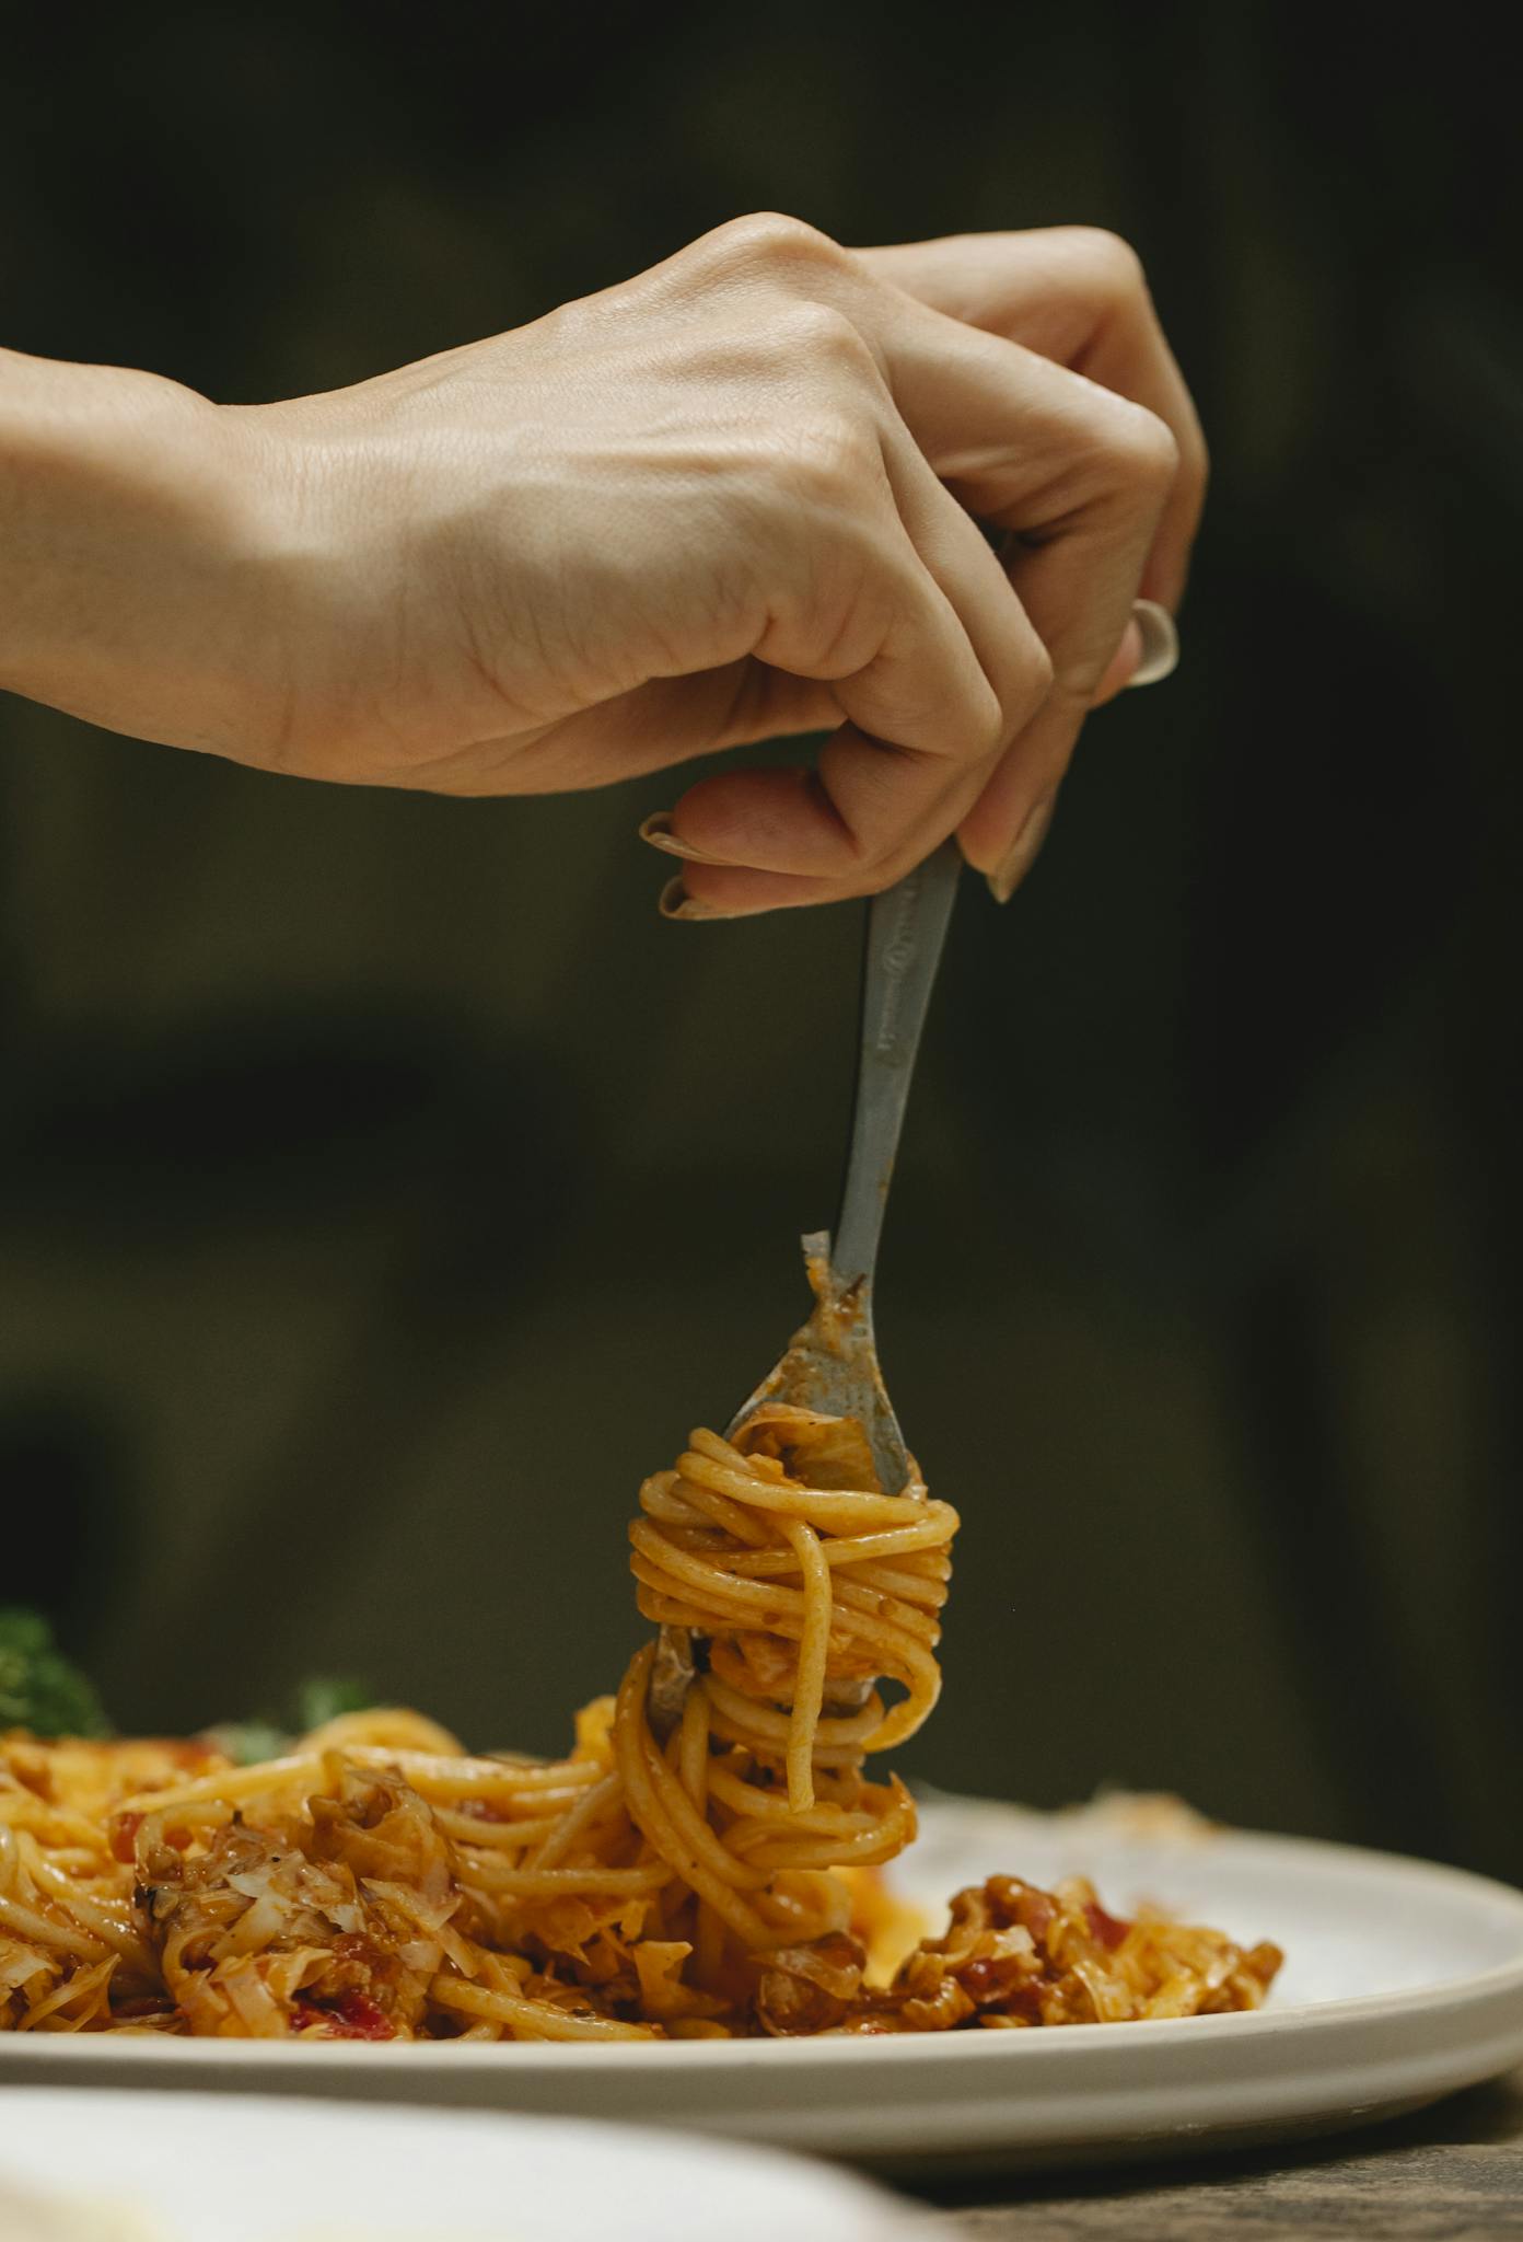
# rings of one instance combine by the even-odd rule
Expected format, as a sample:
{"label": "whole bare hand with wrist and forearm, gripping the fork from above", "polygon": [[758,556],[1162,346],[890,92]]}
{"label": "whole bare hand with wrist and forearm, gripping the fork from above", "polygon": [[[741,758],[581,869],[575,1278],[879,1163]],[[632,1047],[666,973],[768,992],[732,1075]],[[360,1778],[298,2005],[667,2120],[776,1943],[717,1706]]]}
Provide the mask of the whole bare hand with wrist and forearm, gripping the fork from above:
{"label": "whole bare hand with wrist and forearm, gripping the fork from above", "polygon": [[[439,794],[732,749],[647,834],[685,859],[670,915],[867,895],[952,832],[1003,897],[1138,673],[1133,603],[1167,634],[1203,491],[1113,235],[746,217],[287,404],[0,352],[0,686]],[[748,767],[804,731],[811,771]]]}

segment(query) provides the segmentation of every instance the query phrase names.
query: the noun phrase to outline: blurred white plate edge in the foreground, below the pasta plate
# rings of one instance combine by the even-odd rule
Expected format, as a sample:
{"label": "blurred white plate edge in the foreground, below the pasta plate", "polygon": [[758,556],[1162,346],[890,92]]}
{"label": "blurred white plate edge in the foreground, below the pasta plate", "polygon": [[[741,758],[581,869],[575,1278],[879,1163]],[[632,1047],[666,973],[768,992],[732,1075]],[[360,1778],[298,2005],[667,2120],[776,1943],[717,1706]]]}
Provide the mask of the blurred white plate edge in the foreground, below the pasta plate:
{"label": "blurred white plate edge in the foreground, below the pasta plate", "polygon": [[4,2242],[894,2242],[905,2231],[894,2202],[847,2172],[670,2132],[0,2090]]}

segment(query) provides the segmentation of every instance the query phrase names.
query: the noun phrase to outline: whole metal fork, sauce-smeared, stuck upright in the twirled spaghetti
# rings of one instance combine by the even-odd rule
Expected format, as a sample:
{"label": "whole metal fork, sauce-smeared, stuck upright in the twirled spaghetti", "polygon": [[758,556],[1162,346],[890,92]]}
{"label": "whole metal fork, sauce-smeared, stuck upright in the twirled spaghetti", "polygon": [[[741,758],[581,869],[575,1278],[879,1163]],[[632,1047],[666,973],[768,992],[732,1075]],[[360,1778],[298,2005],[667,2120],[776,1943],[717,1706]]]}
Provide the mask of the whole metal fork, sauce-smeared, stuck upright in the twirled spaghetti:
{"label": "whole metal fork, sauce-smeared, stuck upright in the twirled spaghetti", "polygon": [[[921,1029],[961,868],[956,841],[945,841],[898,886],[873,897],[867,910],[851,1152],[835,1235],[811,1231],[804,1238],[804,1262],[815,1289],[813,1314],[726,1428],[726,1437],[735,1439],[768,1401],[791,1401],[824,1417],[856,1417],[887,1495],[905,1491],[912,1462],[878,1368],[873,1271]],[[679,1717],[692,1673],[690,1630],[663,1628],[650,1693],[656,1733],[667,1733]]]}

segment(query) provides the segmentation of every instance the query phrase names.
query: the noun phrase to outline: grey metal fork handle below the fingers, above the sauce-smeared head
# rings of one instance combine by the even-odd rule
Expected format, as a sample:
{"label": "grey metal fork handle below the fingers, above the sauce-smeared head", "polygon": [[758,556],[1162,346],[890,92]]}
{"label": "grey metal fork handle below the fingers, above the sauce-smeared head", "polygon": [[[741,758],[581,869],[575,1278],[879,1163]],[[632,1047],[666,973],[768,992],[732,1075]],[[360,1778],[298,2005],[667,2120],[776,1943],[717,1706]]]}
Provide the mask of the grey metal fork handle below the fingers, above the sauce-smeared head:
{"label": "grey metal fork handle below the fingers, above the sauce-smeared head", "polygon": [[862,1047],[858,1054],[851,1152],[831,1262],[842,1287],[871,1282],[882,1211],[909,1103],[914,1058],[925,1027],[941,946],[956,901],[963,859],[956,841],[876,895],[862,948]]}

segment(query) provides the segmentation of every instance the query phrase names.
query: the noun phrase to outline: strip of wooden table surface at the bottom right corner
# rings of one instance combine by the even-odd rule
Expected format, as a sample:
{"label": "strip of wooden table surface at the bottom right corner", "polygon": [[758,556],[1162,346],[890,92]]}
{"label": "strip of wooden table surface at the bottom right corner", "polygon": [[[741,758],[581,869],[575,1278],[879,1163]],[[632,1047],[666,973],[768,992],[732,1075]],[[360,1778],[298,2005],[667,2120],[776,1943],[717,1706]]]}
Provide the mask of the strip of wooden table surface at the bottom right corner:
{"label": "strip of wooden table surface at the bottom right corner", "polygon": [[1523,2235],[1523,2069],[1433,2110],[1337,2139],[1127,2170],[921,2190],[981,2242],[1501,2242]]}

